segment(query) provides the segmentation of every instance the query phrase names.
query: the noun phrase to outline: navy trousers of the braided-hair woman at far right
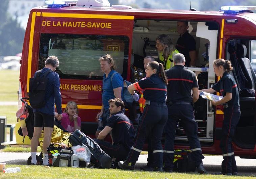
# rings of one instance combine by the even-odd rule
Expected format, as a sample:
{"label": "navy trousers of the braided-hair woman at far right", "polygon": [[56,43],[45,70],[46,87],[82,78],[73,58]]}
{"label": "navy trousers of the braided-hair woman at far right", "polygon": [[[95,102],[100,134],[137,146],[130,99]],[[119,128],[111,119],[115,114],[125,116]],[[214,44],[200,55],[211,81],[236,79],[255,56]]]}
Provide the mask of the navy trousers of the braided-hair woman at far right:
{"label": "navy trousers of the braided-hair woman at far right", "polygon": [[222,137],[220,148],[222,151],[223,161],[221,168],[223,173],[237,172],[232,140],[235,135],[235,128],[239,122],[241,111],[239,106],[224,108],[224,120],[222,125]]}

